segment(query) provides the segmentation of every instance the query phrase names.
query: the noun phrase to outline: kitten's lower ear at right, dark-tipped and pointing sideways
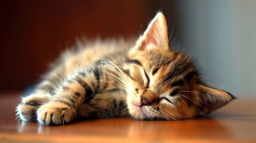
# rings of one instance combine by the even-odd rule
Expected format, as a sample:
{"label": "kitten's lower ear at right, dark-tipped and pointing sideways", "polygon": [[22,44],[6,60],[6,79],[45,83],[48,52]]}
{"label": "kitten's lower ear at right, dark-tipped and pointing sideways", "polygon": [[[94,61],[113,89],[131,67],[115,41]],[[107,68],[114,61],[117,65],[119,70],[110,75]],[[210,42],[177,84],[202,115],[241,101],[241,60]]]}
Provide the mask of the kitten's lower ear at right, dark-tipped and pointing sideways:
{"label": "kitten's lower ear at right, dark-tipped and pointing sideways", "polygon": [[223,107],[227,103],[232,100],[235,100],[236,97],[228,92],[221,91],[219,89],[211,88],[206,85],[199,85],[200,89],[200,96],[202,103],[201,107],[201,114],[208,114],[211,111],[214,111],[220,107]]}

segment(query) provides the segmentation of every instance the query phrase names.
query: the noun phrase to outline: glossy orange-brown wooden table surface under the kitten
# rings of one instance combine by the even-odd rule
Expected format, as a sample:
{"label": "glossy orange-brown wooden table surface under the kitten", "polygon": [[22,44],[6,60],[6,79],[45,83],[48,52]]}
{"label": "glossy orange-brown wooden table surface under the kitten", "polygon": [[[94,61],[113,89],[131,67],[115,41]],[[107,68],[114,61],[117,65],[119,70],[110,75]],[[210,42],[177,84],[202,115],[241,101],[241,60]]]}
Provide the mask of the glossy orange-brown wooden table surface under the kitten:
{"label": "glossy orange-brown wooden table surface under the kitten", "polygon": [[182,121],[99,119],[65,126],[15,121],[17,93],[0,94],[0,142],[256,142],[256,100]]}

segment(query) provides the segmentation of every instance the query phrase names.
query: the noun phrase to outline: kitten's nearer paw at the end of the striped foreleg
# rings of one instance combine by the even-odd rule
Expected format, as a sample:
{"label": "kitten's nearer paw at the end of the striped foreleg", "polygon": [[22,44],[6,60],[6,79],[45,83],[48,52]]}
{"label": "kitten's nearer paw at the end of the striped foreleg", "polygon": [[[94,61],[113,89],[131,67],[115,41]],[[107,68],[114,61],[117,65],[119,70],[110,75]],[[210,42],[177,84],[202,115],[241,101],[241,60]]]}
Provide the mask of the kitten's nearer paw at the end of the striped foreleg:
{"label": "kitten's nearer paw at the end of the striped foreleg", "polygon": [[38,122],[42,125],[61,125],[70,123],[76,111],[61,102],[51,101],[38,109]]}

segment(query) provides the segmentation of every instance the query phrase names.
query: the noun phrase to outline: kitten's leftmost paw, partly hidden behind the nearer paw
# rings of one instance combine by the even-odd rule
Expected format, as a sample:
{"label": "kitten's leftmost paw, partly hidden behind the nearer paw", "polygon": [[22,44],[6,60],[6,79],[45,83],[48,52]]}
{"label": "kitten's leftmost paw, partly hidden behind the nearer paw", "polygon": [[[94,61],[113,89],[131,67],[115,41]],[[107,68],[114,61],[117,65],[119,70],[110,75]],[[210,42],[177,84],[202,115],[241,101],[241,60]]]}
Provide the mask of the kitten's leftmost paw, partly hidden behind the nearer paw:
{"label": "kitten's leftmost paw, partly hidden behind the nearer paw", "polygon": [[30,122],[36,120],[36,110],[45,102],[50,100],[51,95],[48,94],[33,94],[23,97],[22,101],[16,107],[17,119],[23,122]]}

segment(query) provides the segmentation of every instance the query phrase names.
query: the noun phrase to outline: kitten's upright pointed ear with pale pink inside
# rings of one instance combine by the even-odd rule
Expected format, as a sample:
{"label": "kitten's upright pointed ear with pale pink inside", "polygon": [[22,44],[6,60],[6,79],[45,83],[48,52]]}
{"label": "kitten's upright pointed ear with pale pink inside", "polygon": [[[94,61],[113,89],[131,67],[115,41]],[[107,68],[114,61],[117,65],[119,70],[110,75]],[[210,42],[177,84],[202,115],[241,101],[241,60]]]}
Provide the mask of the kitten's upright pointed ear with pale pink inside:
{"label": "kitten's upright pointed ear with pale pink inside", "polygon": [[164,48],[168,46],[168,28],[165,15],[161,12],[149,23],[146,31],[137,41],[136,48],[146,49],[149,45]]}

